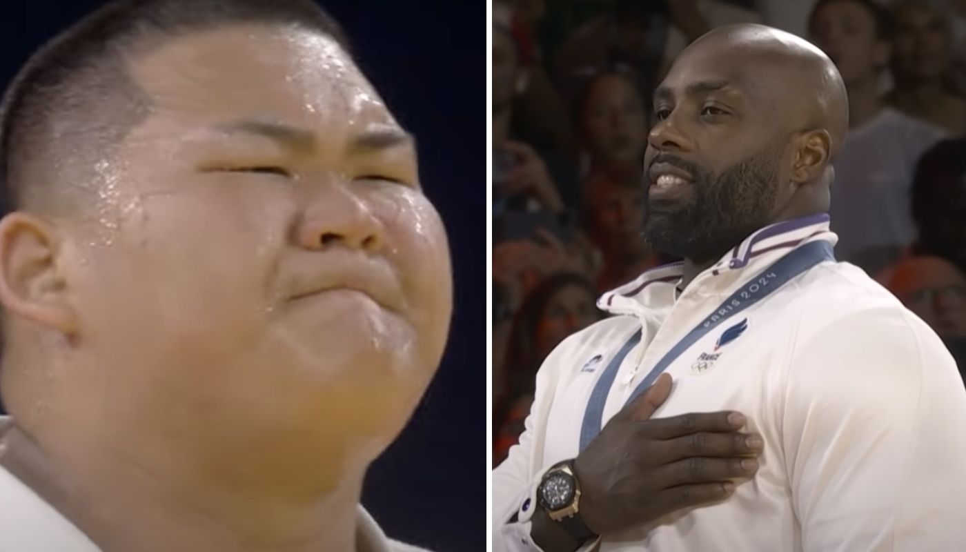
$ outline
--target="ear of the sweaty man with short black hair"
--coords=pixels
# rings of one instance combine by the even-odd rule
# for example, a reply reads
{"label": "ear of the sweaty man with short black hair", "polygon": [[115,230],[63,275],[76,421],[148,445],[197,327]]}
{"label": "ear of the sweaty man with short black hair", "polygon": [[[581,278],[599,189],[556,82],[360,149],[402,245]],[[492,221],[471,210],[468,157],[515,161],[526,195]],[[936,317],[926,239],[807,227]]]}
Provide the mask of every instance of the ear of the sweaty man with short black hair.
{"label": "ear of the sweaty man with short black hair", "polygon": [[0,220],[0,303],[14,316],[72,335],[77,317],[61,261],[47,222],[25,213]]}

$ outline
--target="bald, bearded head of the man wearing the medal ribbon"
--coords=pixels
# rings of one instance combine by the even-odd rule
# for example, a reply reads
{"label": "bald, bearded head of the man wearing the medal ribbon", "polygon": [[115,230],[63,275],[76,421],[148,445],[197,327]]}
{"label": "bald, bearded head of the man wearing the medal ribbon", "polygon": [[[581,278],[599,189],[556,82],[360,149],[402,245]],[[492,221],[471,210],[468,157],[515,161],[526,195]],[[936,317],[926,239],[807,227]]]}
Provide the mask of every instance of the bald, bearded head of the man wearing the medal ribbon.
{"label": "bald, bearded head of the man wearing the medal ribbon", "polygon": [[654,108],[644,232],[656,249],[714,261],[762,226],[828,211],[848,102],[814,45],[718,28],[681,52]]}

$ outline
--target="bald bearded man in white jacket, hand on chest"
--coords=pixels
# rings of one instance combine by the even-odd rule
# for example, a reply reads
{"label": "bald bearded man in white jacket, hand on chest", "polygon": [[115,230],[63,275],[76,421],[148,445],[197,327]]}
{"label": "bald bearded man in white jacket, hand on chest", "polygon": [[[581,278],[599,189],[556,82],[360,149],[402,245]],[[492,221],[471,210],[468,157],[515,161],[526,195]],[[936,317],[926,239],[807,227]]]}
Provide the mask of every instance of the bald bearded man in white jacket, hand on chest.
{"label": "bald bearded man in white jacket, hand on chest", "polygon": [[684,258],[537,375],[494,472],[500,551],[927,551],[966,541],[966,391],[940,339],[838,263],[844,86],[758,25],[691,44],[655,93],[650,244]]}

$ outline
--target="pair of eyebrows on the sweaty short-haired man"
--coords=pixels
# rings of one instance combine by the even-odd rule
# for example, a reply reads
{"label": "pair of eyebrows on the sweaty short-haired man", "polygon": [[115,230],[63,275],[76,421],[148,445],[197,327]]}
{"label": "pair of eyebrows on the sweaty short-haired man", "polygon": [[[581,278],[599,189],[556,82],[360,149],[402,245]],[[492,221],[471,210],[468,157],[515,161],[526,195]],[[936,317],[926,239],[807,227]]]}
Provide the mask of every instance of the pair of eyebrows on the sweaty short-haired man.
{"label": "pair of eyebrows on the sweaty short-haired man", "polygon": [[[223,123],[216,127],[228,133],[257,134],[275,140],[294,150],[307,150],[315,146],[315,133],[282,123],[241,120]],[[415,137],[407,131],[389,125],[372,126],[356,134],[349,144],[349,151],[356,154],[371,153],[402,146],[415,149]]]}

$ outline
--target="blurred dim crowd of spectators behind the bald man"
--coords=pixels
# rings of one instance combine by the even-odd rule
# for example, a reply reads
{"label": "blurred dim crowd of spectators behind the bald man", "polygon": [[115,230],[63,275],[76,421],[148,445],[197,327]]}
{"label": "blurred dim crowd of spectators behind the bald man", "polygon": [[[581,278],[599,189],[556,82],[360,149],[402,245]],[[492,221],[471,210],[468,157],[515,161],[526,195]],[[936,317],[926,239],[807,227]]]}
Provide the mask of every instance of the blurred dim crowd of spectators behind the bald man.
{"label": "blurred dim crowd of spectators behind the bald man", "polygon": [[966,0],[497,0],[493,15],[494,462],[540,363],[596,298],[675,259],[641,237],[650,93],[738,22],[802,36],[849,94],[838,260],[876,278],[966,371]]}

